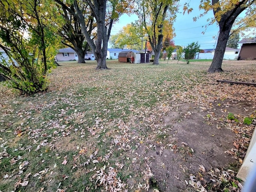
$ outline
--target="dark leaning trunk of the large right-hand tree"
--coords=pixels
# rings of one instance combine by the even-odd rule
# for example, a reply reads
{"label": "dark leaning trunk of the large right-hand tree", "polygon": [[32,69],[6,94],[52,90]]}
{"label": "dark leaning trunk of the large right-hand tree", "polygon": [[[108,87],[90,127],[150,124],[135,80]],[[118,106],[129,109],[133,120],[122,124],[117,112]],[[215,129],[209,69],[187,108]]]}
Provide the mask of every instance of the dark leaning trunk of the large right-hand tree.
{"label": "dark leaning trunk of the large right-hand tree", "polygon": [[220,34],[218,37],[218,42],[217,42],[216,49],[214,52],[212,64],[211,64],[210,68],[208,69],[208,72],[210,72],[210,73],[223,71],[221,68],[222,60],[223,60],[223,57],[225,54],[225,49],[226,49],[226,45],[228,42],[229,33],[232,28],[232,24],[230,24],[230,26],[226,25],[223,27],[221,27],[222,24],[219,24],[219,26],[220,26]]}

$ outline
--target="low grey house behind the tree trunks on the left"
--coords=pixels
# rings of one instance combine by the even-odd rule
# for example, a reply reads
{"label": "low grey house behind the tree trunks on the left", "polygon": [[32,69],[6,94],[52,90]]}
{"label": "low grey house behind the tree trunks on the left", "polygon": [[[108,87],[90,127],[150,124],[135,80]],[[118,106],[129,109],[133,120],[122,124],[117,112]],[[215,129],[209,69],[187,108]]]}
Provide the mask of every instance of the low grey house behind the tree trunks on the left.
{"label": "low grey house behind the tree trunks on the left", "polygon": [[[84,58],[88,60],[95,60],[92,52],[87,52]],[[78,55],[72,48],[63,48],[58,50],[56,59],[57,61],[78,61]]]}

